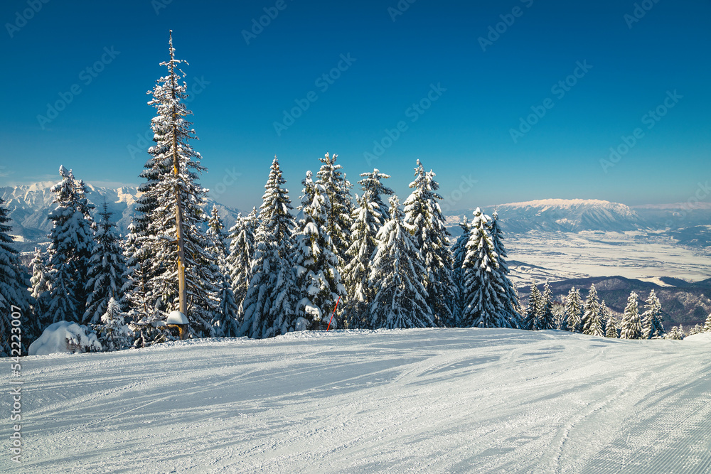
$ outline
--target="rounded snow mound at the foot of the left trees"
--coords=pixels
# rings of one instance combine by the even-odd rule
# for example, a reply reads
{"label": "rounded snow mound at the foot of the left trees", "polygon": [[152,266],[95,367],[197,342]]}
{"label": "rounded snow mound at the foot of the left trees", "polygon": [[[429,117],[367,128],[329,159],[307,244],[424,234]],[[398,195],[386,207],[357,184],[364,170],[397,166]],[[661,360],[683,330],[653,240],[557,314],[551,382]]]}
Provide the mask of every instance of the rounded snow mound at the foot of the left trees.
{"label": "rounded snow mound at the foot of the left trees", "polygon": [[102,350],[96,334],[85,325],[58,321],[50,324],[30,345],[28,355],[47,355],[57,352],[95,352]]}

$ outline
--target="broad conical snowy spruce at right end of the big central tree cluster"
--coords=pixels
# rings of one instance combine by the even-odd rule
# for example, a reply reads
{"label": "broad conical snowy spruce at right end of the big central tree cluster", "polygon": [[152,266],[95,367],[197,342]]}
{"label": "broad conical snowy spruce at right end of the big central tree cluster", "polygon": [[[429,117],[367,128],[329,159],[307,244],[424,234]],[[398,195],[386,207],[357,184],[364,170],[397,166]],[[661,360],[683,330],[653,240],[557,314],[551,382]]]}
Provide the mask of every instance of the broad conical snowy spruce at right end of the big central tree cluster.
{"label": "broad conical snowy spruce at right end of the big central tree cluster", "polygon": [[462,268],[465,306],[459,325],[464,328],[512,327],[503,303],[506,293],[487,220],[487,216],[476,208]]}

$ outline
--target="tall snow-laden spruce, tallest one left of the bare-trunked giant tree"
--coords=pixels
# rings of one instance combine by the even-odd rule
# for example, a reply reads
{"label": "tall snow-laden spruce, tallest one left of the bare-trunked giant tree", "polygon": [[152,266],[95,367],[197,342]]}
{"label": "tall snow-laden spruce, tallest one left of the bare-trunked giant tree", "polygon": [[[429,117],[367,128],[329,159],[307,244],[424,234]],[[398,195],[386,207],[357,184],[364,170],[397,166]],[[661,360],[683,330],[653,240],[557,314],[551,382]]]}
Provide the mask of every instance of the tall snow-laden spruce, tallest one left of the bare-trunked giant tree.
{"label": "tall snow-laden spruce, tallest one left of the bare-trunked giant tree", "polygon": [[87,291],[84,282],[90,268],[94,247],[93,206],[85,196],[86,188],[76,181],[72,171],[59,168],[62,181],[51,190],[56,194],[57,208],[50,212],[50,303],[43,328],[58,321],[82,323]]}

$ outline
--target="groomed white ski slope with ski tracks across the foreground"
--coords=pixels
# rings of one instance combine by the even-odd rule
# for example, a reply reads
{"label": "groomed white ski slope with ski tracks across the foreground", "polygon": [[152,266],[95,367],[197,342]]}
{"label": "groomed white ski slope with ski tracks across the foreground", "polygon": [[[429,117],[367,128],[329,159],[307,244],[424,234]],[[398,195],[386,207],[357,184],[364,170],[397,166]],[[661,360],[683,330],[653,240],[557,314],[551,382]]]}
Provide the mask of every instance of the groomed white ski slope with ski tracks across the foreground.
{"label": "groomed white ski slope with ski tracks across the foreground", "polygon": [[[25,473],[709,473],[710,349],[711,333],[626,341],[416,329],[32,356],[22,367],[23,463],[0,464]],[[6,420],[0,436],[10,429]]]}

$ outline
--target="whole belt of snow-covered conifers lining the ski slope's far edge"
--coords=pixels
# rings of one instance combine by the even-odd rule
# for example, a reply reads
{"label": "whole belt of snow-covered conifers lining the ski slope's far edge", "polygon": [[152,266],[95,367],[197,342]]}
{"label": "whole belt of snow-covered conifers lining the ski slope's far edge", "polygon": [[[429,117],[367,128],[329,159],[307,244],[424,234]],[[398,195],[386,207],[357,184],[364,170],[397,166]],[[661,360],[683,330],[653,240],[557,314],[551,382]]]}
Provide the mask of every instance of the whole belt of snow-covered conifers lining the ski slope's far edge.
{"label": "whole belt of snow-covered conifers lining the ski slope's far edge", "polygon": [[[380,328],[561,329],[624,339],[683,338],[668,333],[654,292],[646,303],[632,293],[614,316],[594,285],[585,301],[570,289],[552,301],[545,282],[531,285],[522,307],[508,276],[505,235],[498,215],[476,209],[453,241],[445,226],[436,174],[413,163],[411,193],[400,199],[389,175],[373,169],[348,181],[338,155],[314,160],[299,196],[289,195],[279,160],[265,170],[262,205],[225,229],[217,209],[200,207],[208,168],[193,149],[183,61],[172,37],[166,75],[156,81],[149,105],[154,145],[147,152],[137,213],[119,236],[112,214],[86,198],[86,185],[62,165],[52,188],[55,209],[50,246],[23,268],[0,207],[0,296],[24,308],[23,353],[59,321],[77,323],[102,345],[86,350],[142,348],[178,338],[166,325],[178,310],[176,215],[181,217],[186,275],[183,337],[270,338],[300,330]],[[406,170],[398,170],[405,173]],[[178,212],[179,210],[179,212]],[[26,276],[31,275],[30,279]],[[557,311],[555,305],[565,309]],[[639,303],[645,306],[642,311]],[[5,312],[4,315],[8,313]],[[11,321],[3,316],[9,333]],[[708,328],[694,329],[702,332]],[[81,347],[78,348],[81,350]],[[5,340],[3,355],[10,355]]]}

